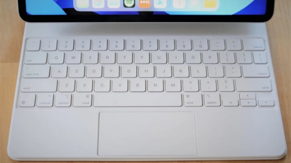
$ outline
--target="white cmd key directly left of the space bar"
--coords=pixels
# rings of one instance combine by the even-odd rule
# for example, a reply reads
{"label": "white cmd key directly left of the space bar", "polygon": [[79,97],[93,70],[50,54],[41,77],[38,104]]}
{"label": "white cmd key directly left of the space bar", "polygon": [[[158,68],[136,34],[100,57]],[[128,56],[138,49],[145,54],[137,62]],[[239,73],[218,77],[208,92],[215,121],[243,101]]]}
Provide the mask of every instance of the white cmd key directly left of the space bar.
{"label": "white cmd key directly left of the space bar", "polygon": [[90,107],[92,104],[92,94],[75,94],[73,99],[74,107]]}

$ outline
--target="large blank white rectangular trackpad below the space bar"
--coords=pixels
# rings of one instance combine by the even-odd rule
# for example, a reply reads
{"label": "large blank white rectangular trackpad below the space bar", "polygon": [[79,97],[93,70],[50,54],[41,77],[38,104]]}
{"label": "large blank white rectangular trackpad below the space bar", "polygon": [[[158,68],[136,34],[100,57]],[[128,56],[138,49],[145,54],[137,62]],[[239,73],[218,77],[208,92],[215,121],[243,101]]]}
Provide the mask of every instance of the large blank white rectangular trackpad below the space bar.
{"label": "large blank white rectangular trackpad below the space bar", "polygon": [[197,155],[195,113],[101,112],[98,155]]}

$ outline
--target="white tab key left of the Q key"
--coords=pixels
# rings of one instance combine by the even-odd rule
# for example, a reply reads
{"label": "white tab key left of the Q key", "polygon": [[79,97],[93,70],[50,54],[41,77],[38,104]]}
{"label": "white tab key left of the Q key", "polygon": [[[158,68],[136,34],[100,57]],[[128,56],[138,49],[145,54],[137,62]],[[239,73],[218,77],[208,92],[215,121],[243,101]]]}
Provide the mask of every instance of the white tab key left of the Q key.
{"label": "white tab key left of the Q key", "polygon": [[46,64],[47,53],[46,52],[26,52],[25,64]]}

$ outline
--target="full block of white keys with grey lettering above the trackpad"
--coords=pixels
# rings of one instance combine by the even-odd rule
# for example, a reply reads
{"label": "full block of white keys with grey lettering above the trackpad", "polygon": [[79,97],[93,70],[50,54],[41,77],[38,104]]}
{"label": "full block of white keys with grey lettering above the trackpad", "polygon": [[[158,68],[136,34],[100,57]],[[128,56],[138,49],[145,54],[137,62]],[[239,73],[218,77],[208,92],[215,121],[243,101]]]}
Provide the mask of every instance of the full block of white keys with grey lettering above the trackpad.
{"label": "full block of white keys with grey lettering above the trackpad", "polygon": [[18,106],[273,107],[267,58],[261,38],[31,38]]}

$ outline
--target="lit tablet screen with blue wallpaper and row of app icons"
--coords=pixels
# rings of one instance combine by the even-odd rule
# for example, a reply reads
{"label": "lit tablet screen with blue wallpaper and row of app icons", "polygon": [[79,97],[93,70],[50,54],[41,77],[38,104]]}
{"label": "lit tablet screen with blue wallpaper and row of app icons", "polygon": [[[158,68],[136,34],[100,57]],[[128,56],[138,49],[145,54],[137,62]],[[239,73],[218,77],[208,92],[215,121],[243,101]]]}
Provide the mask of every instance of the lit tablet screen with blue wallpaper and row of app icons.
{"label": "lit tablet screen with blue wallpaper and row of app icons", "polygon": [[26,0],[28,15],[264,15],[267,0]]}

